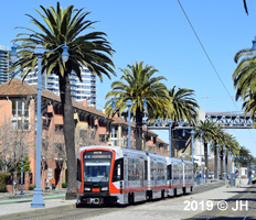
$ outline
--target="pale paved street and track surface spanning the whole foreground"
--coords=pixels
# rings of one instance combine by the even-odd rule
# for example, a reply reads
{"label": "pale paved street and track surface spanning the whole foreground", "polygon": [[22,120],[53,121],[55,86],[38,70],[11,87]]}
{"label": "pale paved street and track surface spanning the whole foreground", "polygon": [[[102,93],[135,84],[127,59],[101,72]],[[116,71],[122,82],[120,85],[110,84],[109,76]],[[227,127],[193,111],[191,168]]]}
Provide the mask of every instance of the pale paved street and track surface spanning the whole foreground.
{"label": "pale paved street and track surface spanning the whole foreground", "polygon": [[[75,208],[75,200],[65,201],[60,198],[47,200],[47,208],[31,209],[26,212],[2,216],[0,219],[13,220],[50,220],[50,219],[86,219],[86,220],[202,220],[202,219],[256,219],[256,188],[254,186],[244,186],[241,188],[227,188],[224,183],[214,183],[200,185],[195,187],[193,194],[139,202],[131,206],[107,206]],[[22,201],[22,200],[21,200]],[[228,207],[220,210],[220,204],[226,201]],[[238,210],[234,210],[242,205]],[[64,206],[51,207],[51,204],[63,202]],[[65,204],[66,202],[66,204]],[[242,204],[241,204],[242,202]],[[247,204],[246,204],[247,202]],[[22,206],[30,202],[0,204],[1,212],[4,209],[21,209]],[[245,207],[246,205],[246,207]],[[46,206],[45,206],[46,207]],[[221,208],[223,208],[221,206]],[[225,208],[225,207],[224,207]],[[247,209],[245,209],[247,208]],[[209,209],[209,210],[207,210]],[[246,218],[245,218],[246,217]]]}

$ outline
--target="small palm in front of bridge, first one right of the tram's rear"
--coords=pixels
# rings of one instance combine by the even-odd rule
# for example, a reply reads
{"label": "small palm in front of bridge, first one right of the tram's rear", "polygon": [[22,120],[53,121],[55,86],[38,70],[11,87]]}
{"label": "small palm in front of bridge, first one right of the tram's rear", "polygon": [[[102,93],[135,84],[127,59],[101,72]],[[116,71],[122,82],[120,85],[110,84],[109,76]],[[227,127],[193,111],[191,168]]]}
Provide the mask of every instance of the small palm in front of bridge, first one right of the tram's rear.
{"label": "small palm in front of bridge, first one right of the tram's rear", "polygon": [[195,134],[194,138],[196,140],[201,139],[202,133],[202,141],[204,144],[204,160],[205,160],[205,175],[209,175],[209,155],[207,155],[207,144],[214,140],[214,128],[215,123],[212,121],[200,121],[199,124],[195,127]]}

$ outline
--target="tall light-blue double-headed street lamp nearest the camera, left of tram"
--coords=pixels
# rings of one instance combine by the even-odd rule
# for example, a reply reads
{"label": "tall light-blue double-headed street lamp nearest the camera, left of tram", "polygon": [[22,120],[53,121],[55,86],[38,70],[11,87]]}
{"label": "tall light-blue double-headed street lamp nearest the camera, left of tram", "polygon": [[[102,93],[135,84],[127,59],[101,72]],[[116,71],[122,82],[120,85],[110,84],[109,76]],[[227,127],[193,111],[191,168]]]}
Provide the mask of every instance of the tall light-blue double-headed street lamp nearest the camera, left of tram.
{"label": "tall light-blue double-headed street lamp nearest the camera, left of tram", "polygon": [[[18,58],[17,46],[13,45],[12,52],[10,54],[11,61],[14,63]],[[29,52],[33,52],[38,56],[38,125],[36,125],[36,182],[35,188],[33,191],[33,200],[31,202],[32,208],[43,208],[43,189],[41,188],[41,59],[44,53],[54,52],[57,48],[63,47],[62,59],[63,62],[67,62],[68,52],[66,43],[57,46],[55,50],[49,51],[44,50],[42,45],[36,45],[34,50],[26,50]],[[23,47],[22,47],[23,48]],[[25,48],[24,48],[25,50]]]}

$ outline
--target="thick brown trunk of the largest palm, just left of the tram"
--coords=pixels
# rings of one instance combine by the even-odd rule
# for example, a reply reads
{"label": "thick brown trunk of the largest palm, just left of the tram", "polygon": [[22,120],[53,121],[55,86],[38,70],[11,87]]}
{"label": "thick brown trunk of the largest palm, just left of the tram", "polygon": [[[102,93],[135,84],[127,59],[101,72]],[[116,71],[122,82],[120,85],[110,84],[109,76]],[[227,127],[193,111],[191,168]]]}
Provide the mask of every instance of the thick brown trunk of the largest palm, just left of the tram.
{"label": "thick brown trunk of the largest palm, just left of the tram", "polygon": [[71,85],[68,73],[58,77],[62,100],[64,139],[67,157],[67,191],[66,199],[76,198],[76,154],[75,154],[75,123],[74,110],[71,99]]}

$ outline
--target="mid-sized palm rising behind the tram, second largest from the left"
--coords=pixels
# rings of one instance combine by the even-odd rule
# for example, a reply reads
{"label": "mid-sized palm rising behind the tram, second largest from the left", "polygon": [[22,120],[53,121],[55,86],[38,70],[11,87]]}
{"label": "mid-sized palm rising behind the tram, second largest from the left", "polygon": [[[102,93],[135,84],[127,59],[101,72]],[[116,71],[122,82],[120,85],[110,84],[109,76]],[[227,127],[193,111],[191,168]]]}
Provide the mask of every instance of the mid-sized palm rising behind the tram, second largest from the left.
{"label": "mid-sized palm rising behind the tram, second largest from the left", "polygon": [[118,100],[117,110],[119,114],[127,107],[127,100],[131,100],[134,105],[131,106],[131,112],[136,117],[136,148],[142,148],[142,100],[146,98],[148,105],[149,117],[160,116],[161,109],[167,108],[169,100],[167,87],[160,82],[160,80],[166,79],[162,76],[153,77],[153,74],[158,70],[149,66],[143,65],[143,62],[128,65],[128,69],[120,70],[124,73],[121,80],[114,81],[111,84],[111,91],[106,95],[106,98],[110,98],[106,105],[106,113],[111,116],[115,113],[111,109],[113,98]]}

